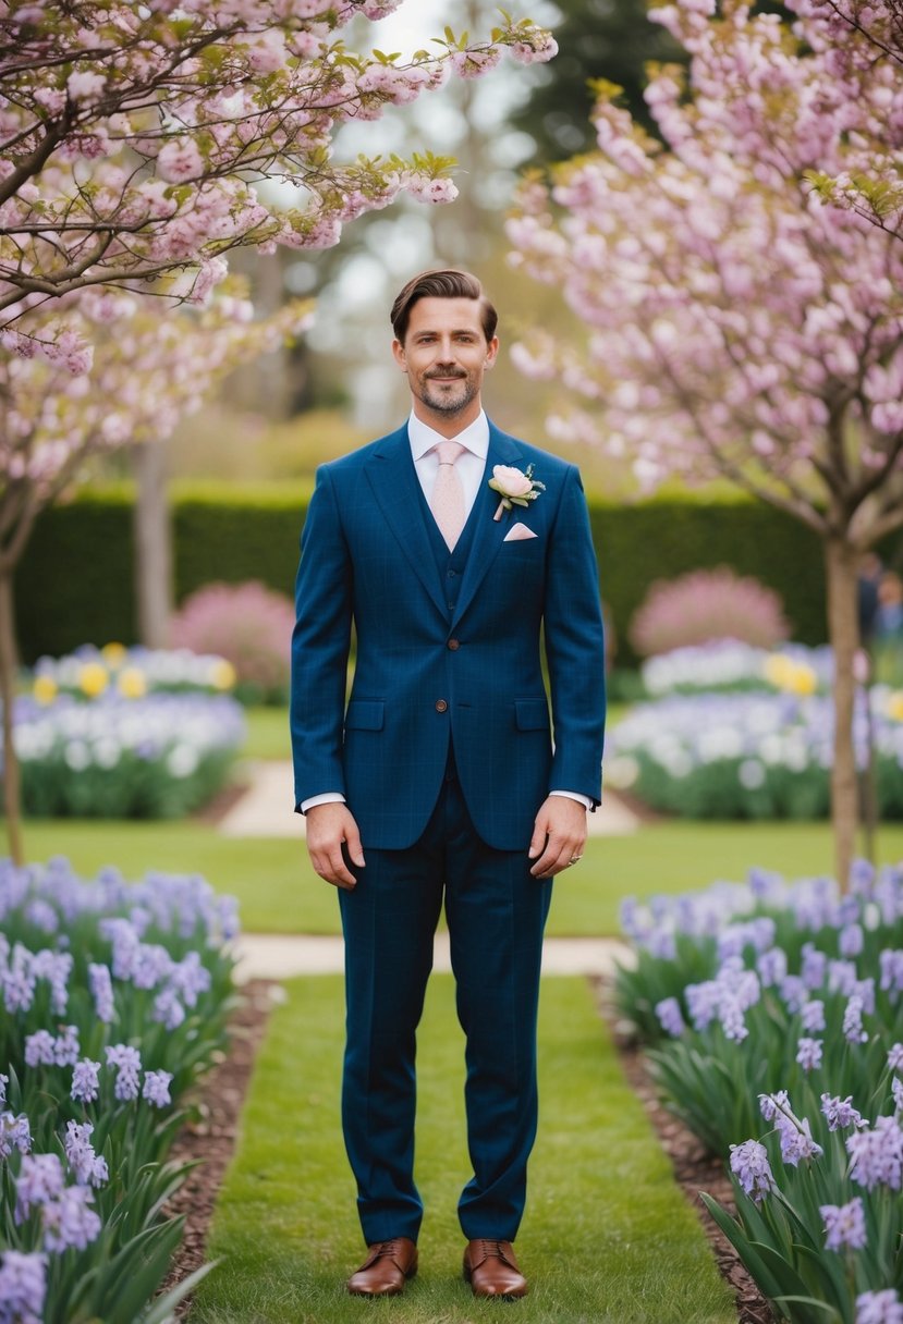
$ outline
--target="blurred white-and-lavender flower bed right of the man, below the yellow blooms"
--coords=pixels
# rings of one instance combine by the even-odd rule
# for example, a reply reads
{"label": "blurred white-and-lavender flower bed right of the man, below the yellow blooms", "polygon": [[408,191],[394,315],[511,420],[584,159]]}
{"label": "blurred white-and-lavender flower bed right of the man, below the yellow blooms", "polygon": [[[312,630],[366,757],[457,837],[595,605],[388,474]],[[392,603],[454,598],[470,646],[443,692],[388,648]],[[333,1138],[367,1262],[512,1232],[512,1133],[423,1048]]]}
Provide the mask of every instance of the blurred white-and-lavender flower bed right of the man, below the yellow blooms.
{"label": "blurred white-and-lavender flower bed right of the man, below the yellow blooms", "polygon": [[[871,690],[878,809],[903,818],[903,695]],[[608,737],[608,784],[686,818],[824,818],[834,714],[824,695],[699,694],[641,703]],[[854,739],[867,763],[859,694]]]}

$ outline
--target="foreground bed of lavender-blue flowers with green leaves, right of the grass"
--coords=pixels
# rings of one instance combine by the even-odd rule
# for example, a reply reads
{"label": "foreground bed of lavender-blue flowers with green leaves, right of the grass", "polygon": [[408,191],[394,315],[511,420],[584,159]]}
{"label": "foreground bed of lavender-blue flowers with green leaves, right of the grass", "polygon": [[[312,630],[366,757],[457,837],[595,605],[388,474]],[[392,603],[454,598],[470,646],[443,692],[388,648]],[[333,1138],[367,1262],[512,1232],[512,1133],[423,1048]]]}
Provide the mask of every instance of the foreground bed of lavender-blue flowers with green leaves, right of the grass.
{"label": "foreground bed of lavender-blue flowers with green leaves, right of the grass", "polygon": [[620,1013],[669,1107],[728,1157],[707,1201],[779,1317],[903,1321],[903,870],[756,871],[629,903]]}

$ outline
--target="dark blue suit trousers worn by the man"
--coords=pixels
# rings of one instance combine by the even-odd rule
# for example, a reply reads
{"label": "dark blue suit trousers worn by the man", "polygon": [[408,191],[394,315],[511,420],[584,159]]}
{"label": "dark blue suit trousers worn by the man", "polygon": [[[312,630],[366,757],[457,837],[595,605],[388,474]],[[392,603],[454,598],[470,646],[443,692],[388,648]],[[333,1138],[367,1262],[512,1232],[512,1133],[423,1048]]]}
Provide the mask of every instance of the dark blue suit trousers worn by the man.
{"label": "dark blue suit trousers worn by the man", "polygon": [[422,837],[373,850],[340,891],[346,941],[347,1045],[342,1091],[346,1148],[368,1245],[417,1241],[422,1202],[413,1176],[416,1033],[445,900],[465,1033],[467,1145],[473,1176],[461,1229],[514,1241],[536,1135],[536,1012],[551,879],[530,874],[527,850],[493,850],[477,834],[449,759]]}

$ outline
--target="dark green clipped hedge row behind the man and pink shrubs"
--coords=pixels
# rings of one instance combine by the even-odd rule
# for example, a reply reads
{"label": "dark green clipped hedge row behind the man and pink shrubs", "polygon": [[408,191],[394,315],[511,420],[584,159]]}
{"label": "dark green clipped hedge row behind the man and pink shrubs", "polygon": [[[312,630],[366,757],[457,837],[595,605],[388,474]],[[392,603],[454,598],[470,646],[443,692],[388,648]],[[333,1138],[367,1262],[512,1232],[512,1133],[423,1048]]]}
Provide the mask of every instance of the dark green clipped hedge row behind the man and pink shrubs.
{"label": "dark green clipped hedge row behind the man and pink shrubs", "polygon": [[[173,500],[176,600],[211,580],[258,579],[291,594],[307,490],[196,489]],[[731,565],[777,589],[805,643],[825,639],[818,539],[797,520],[745,500],[655,498],[592,506],[602,583],[618,639],[657,579]],[[16,580],[23,661],[78,643],[134,642],[134,555],[127,491],[86,493],[45,511]]]}

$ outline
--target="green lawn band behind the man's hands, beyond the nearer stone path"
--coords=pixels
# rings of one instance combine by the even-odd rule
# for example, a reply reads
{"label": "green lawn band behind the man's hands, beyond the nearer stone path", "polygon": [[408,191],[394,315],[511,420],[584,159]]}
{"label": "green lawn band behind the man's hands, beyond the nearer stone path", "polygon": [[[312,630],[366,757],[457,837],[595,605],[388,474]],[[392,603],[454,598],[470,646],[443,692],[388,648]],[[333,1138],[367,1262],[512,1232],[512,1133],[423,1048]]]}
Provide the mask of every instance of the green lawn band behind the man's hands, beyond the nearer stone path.
{"label": "green lawn band behind the man's hands, beyond the nearer stone path", "polygon": [[[903,825],[879,833],[880,861],[903,859]],[[314,874],[303,841],[228,838],[196,822],[34,821],[25,824],[28,859],[66,855],[83,875],[115,865],[126,878],[148,869],[197,873],[241,902],[254,932],[338,933],[335,892]],[[630,837],[591,838],[584,859],[555,886],[549,933],[618,932],[629,894],[679,892],[715,879],[741,880],[752,865],[788,878],[832,871],[826,824],[643,825]]]}

